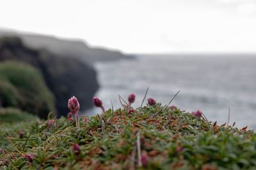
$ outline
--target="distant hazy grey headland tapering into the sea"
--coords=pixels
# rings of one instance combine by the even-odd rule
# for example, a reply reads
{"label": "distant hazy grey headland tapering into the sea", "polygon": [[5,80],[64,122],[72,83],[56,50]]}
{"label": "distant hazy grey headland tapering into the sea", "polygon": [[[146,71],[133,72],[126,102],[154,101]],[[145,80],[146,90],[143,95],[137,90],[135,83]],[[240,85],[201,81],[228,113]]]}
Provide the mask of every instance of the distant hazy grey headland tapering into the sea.
{"label": "distant hazy grey headland tapering into the sea", "polygon": [[121,52],[116,50],[106,50],[104,48],[92,48],[81,39],[60,39],[53,36],[43,36],[40,34],[24,34],[19,32],[0,31],[0,36],[17,36],[29,48],[44,48],[60,57],[74,57],[86,63],[93,64],[97,61],[109,61],[117,59],[127,59]]}

